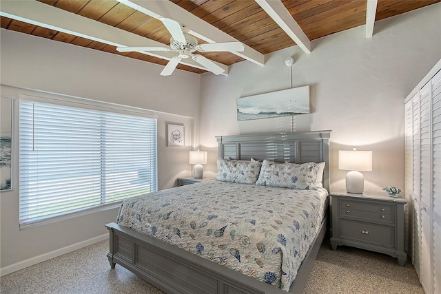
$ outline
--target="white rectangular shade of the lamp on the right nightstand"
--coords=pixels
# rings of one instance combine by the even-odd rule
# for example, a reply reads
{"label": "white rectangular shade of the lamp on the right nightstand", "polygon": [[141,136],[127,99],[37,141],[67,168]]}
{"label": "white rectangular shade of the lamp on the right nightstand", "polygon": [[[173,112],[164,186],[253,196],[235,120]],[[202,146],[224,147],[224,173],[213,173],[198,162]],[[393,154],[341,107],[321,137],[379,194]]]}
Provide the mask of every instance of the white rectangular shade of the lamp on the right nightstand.
{"label": "white rectangular shade of the lamp on the right nightstand", "polygon": [[371,171],[372,151],[338,151],[338,169]]}

